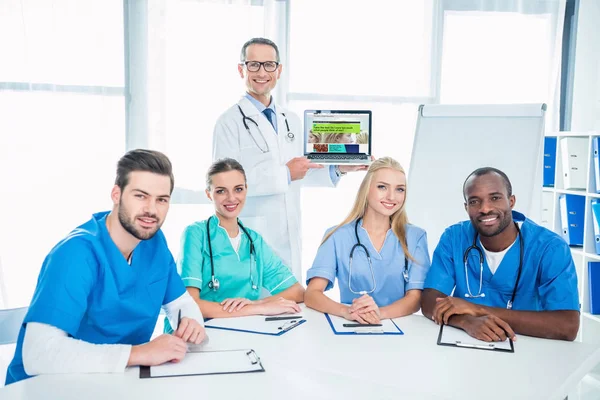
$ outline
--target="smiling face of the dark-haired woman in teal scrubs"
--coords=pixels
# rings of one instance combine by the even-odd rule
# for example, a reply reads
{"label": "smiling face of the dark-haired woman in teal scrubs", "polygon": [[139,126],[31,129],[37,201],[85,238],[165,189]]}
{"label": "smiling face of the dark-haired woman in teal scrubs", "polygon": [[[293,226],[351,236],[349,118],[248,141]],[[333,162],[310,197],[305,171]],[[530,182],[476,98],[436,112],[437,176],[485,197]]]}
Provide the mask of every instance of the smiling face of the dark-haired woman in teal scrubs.
{"label": "smiling face of the dark-haired woman in teal scrubs", "polygon": [[246,180],[240,171],[220,172],[211,177],[206,195],[215,205],[219,219],[237,219],[246,202]]}

